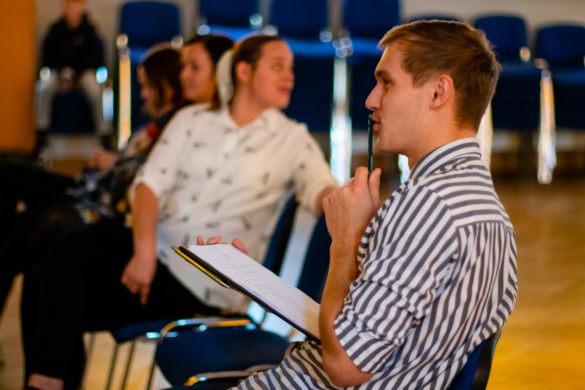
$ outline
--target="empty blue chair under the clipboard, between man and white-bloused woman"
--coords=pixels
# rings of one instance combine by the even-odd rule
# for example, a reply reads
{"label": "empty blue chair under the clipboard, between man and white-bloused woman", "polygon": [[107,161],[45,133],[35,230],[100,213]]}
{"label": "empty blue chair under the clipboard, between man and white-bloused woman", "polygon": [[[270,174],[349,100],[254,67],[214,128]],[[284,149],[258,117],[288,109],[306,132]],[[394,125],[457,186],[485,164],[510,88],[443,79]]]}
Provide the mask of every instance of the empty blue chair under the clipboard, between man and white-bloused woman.
{"label": "empty blue chair under the clipboard, between man and white-bloused woman", "polygon": [[[322,286],[329,266],[330,246],[331,237],[323,215],[315,225],[298,282],[299,289],[318,301],[321,300]],[[233,376],[230,375],[238,375],[237,373],[226,373],[225,377],[214,379],[219,381],[215,385],[206,380],[207,377],[202,378],[197,374],[243,371],[257,365],[276,365],[283,360],[290,344],[287,338],[260,330],[259,326],[252,323],[235,327],[212,327],[208,323],[201,327],[197,319],[189,321],[188,324],[181,324],[180,321],[168,324],[161,331],[155,353],[160,371],[173,386],[183,385],[192,378],[194,389],[228,388],[232,385],[225,384],[233,381]],[[205,358],[202,358],[203,355]]]}

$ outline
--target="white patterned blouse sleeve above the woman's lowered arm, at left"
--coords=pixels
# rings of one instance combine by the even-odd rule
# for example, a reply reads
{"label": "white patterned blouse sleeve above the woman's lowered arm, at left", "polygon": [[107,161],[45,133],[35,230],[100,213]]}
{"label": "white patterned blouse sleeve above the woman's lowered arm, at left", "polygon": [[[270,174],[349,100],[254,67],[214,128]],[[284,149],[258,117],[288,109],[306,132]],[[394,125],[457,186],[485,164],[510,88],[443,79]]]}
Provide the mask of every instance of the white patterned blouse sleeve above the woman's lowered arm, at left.
{"label": "white patterned blouse sleeve above the woman's lowered arm, at left", "polygon": [[185,117],[188,117],[185,115],[185,111],[177,113],[163,129],[159,139],[150,150],[146,162],[137,171],[132,186],[130,186],[130,201],[134,197],[136,186],[140,183],[146,184],[153,191],[159,199],[159,205],[163,197],[173,189],[189,134],[184,125]]}

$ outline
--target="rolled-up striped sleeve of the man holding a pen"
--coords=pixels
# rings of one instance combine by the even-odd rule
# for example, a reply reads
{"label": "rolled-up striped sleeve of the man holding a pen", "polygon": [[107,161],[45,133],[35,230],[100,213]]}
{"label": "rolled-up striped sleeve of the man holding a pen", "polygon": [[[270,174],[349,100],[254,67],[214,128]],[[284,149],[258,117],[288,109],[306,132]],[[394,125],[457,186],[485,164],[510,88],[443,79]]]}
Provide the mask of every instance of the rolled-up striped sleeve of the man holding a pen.
{"label": "rolled-up striped sleeve of the man holding a pen", "polygon": [[334,323],[360,370],[382,370],[428,314],[458,242],[450,211],[433,191],[411,189],[390,203]]}

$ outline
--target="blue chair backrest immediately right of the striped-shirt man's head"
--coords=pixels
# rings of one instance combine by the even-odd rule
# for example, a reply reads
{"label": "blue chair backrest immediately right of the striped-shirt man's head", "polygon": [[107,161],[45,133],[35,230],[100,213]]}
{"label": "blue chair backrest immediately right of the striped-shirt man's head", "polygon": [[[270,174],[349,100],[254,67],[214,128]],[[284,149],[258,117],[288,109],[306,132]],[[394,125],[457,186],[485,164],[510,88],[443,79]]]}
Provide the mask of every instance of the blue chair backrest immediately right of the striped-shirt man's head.
{"label": "blue chair backrest immediately right of the striped-shirt man's head", "polygon": [[486,16],[475,22],[475,28],[484,30],[494,45],[498,60],[520,60],[520,48],[526,46],[526,25],[517,16]]}

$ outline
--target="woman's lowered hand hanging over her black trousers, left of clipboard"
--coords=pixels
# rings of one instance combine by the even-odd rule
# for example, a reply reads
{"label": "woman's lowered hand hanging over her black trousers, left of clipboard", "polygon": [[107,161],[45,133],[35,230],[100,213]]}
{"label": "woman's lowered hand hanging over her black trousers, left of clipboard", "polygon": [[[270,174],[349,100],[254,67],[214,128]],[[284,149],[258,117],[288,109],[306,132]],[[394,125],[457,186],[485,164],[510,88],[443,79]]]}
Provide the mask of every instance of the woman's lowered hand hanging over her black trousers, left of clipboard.
{"label": "woman's lowered hand hanging over her black trousers, left of clipboard", "polygon": [[124,272],[121,282],[133,294],[140,296],[140,303],[146,305],[150,293],[150,285],[156,274],[156,254],[138,255],[134,254]]}

